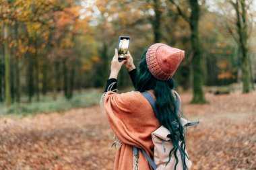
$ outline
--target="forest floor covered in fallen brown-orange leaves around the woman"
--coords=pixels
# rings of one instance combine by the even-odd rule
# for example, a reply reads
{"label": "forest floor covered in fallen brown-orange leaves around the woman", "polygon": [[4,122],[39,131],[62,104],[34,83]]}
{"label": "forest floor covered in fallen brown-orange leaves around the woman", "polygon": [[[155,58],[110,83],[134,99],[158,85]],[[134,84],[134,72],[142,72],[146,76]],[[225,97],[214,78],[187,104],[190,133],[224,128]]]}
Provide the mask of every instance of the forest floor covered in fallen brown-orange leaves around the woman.
{"label": "forest floor covered in fallen brown-orange leaves around the woman", "polygon": [[[256,169],[256,93],[181,95],[193,169]],[[113,169],[113,132],[100,107],[0,118],[0,169]]]}

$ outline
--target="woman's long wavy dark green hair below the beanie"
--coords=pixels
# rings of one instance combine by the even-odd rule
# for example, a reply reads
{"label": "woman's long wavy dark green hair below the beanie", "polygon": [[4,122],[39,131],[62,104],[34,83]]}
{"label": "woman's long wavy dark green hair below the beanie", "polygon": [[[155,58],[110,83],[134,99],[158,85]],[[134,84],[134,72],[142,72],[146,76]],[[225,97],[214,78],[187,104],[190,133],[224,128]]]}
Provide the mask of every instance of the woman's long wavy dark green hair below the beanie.
{"label": "woman's long wavy dark green hair below the beanie", "polygon": [[[160,81],[152,76],[150,71],[148,70],[147,63],[146,63],[146,52],[145,50],[142,54],[141,61],[139,63],[139,71],[137,74],[137,84],[135,85],[135,91],[146,91],[152,89],[154,94],[156,95],[156,108],[158,110],[158,114],[156,117],[158,118],[160,124],[162,124],[165,128],[170,130],[170,137],[173,148],[169,153],[169,160],[172,154],[176,159],[177,167],[179,163],[179,159],[177,157],[177,151],[179,151],[179,142],[181,142],[181,152],[185,157],[187,154],[185,153],[185,136],[184,136],[184,128],[181,124],[181,118],[179,118],[178,113],[175,112],[177,110],[176,100],[172,95],[172,89],[174,87],[173,79],[169,79],[168,81]],[[175,123],[174,123],[175,122]],[[187,165],[185,162],[185,157],[183,157],[183,165],[187,169]],[[167,163],[167,164],[168,164]],[[166,165],[167,165],[166,164]]]}

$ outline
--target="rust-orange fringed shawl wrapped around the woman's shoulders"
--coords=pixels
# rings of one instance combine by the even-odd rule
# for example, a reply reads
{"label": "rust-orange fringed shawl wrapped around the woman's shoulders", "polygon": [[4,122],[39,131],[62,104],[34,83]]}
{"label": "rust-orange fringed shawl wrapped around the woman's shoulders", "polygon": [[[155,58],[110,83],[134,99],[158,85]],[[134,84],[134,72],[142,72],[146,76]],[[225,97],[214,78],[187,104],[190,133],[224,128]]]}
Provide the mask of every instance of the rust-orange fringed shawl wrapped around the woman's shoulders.
{"label": "rust-orange fringed shawl wrapped around the woman's shoulders", "polygon": [[[149,91],[152,95],[153,92]],[[154,96],[154,95],[153,95]],[[160,127],[148,100],[138,91],[104,96],[104,112],[113,132],[123,143],[117,150],[115,170],[133,169],[133,148],[143,148],[153,158],[154,144],[151,133]],[[152,169],[146,157],[139,152],[139,170]]]}

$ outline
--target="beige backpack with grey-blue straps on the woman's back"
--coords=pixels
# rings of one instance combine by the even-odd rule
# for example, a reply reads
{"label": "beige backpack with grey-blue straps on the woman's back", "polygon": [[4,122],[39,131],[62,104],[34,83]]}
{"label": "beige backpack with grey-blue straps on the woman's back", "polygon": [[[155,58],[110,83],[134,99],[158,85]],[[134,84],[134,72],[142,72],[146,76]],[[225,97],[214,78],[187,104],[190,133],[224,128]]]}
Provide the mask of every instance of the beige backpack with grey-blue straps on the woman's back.
{"label": "beige backpack with grey-blue straps on the woman's back", "polygon": [[[177,108],[179,108],[180,105],[180,99],[179,95],[177,94],[176,91],[174,91],[174,94],[176,95],[177,98]],[[152,108],[155,113],[158,111],[156,110],[156,101],[148,93],[147,91],[143,92],[142,95],[148,99],[150,105],[152,105]],[[178,112],[179,110],[177,110]],[[174,122],[175,123],[175,122]],[[189,122],[184,118],[181,118],[181,123],[182,125],[186,128],[187,126],[192,126],[194,124],[199,124],[199,121],[196,122]],[[146,154],[145,151],[141,150],[140,148],[133,147],[133,155],[136,156],[137,151],[141,150],[143,155],[148,159],[148,162],[152,166],[153,169],[156,170],[173,170],[176,164],[176,159],[174,157],[174,154],[170,157],[170,162],[168,163],[169,160],[169,153],[172,150],[173,144],[170,138],[168,137],[168,134],[170,134],[170,131],[165,128],[164,126],[160,126],[157,130],[152,132],[152,140],[154,143],[154,161]],[[182,153],[181,154],[181,142],[179,142],[179,149],[177,150],[177,157],[179,159],[179,163],[177,164],[176,169],[177,170],[186,170],[190,169],[192,162],[188,159],[188,154],[187,154],[187,149],[185,149],[185,153],[187,154],[187,157]],[[185,157],[185,164],[183,164],[182,159],[184,160]],[[168,163],[166,165],[166,163]]]}

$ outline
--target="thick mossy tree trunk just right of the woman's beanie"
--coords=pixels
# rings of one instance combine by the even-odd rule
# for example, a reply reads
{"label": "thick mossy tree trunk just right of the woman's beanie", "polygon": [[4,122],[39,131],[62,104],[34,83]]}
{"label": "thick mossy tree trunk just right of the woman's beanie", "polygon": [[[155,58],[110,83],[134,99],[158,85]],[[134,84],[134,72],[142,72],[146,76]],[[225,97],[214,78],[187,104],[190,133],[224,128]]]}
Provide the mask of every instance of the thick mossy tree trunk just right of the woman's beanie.
{"label": "thick mossy tree trunk just right of the woman's beanie", "polygon": [[197,0],[190,0],[191,17],[189,25],[191,28],[191,46],[193,49],[192,67],[193,67],[193,99],[192,103],[205,103],[203,93],[203,58],[199,42],[199,16],[200,7]]}

